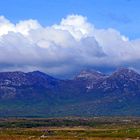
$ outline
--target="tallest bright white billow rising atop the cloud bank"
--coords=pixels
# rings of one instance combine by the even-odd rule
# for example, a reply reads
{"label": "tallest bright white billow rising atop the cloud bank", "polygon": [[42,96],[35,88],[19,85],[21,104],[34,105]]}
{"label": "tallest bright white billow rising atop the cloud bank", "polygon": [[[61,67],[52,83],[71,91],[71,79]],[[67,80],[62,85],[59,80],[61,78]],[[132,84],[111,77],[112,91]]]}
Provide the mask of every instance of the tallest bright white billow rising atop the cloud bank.
{"label": "tallest bright white billow rising atop the cloud bank", "polygon": [[87,18],[80,15],[69,15],[66,19],[62,19],[59,25],[53,25],[53,28],[66,30],[77,40],[92,35],[94,30],[94,26],[87,22]]}

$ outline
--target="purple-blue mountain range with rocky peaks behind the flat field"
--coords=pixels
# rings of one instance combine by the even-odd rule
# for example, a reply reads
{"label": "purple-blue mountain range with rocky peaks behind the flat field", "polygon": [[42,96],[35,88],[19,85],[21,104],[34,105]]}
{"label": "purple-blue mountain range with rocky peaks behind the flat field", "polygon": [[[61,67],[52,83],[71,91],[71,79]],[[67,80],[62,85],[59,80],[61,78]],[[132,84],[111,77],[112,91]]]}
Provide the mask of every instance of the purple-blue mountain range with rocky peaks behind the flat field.
{"label": "purple-blue mountain range with rocky peaks behind the flat field", "polygon": [[70,80],[40,71],[0,73],[0,117],[140,116],[140,74],[84,70]]}

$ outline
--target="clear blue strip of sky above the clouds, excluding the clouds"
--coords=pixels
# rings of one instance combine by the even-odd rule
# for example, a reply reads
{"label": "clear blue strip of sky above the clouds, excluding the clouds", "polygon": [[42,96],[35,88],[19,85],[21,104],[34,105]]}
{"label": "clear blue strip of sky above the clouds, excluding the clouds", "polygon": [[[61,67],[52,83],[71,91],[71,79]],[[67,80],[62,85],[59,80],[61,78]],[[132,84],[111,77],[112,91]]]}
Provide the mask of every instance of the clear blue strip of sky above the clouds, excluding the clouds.
{"label": "clear blue strip of sky above the clouds, excluding the clouds", "polygon": [[139,7],[139,0],[1,0],[0,14],[12,22],[37,19],[44,26],[80,14],[97,28],[112,27],[134,39],[140,36]]}

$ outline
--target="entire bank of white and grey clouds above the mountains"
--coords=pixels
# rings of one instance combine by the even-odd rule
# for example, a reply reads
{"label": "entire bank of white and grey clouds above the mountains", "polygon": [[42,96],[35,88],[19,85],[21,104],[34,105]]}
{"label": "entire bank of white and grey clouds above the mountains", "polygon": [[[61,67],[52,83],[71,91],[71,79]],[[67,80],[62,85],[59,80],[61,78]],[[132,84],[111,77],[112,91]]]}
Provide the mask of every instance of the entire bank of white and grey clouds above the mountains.
{"label": "entire bank of white and grey clouds above the mountains", "polygon": [[140,39],[129,40],[112,28],[97,29],[81,15],[69,15],[49,27],[33,19],[14,24],[0,16],[1,71],[66,76],[88,67],[139,69],[139,46]]}

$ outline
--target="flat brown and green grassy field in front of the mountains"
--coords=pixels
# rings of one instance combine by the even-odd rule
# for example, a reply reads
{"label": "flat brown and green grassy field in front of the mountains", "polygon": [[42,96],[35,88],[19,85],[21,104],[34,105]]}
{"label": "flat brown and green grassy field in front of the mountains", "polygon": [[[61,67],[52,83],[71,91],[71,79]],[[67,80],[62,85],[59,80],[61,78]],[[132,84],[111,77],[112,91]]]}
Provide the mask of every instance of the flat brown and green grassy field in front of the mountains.
{"label": "flat brown and green grassy field in front of the mountains", "polygon": [[140,118],[0,119],[0,140],[140,140]]}

